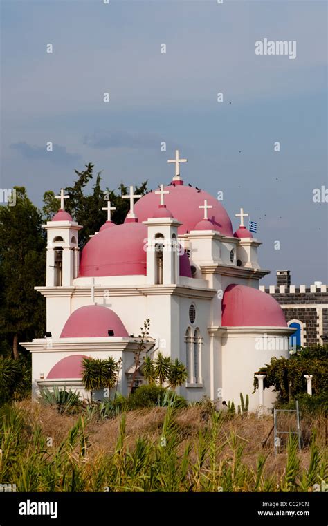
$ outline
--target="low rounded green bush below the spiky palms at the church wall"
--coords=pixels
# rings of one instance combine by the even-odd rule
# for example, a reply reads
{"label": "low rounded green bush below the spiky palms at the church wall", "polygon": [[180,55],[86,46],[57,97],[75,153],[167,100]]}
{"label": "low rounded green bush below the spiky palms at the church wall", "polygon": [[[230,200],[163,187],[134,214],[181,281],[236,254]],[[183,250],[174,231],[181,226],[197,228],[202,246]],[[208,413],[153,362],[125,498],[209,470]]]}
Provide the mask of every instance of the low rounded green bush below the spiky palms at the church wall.
{"label": "low rounded green bush below the spiky palms at the church wall", "polygon": [[154,384],[137,387],[136,391],[129,395],[129,409],[154,406],[181,407],[186,404],[185,399],[176,395],[174,391]]}

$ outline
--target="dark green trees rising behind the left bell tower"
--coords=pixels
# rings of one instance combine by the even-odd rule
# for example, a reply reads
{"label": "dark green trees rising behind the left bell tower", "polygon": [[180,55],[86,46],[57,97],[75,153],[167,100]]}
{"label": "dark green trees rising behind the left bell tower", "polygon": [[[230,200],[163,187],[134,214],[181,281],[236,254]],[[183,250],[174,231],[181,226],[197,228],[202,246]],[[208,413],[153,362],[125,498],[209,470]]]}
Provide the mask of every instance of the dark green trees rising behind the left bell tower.
{"label": "dark green trees rising behind the left bell tower", "polygon": [[[65,201],[65,210],[69,212],[79,225],[83,225],[83,229],[79,234],[79,246],[84,247],[85,243],[89,241],[89,236],[95,232],[99,232],[100,227],[107,220],[106,212],[102,208],[106,205],[106,201],[110,200],[111,205],[116,207],[112,214],[113,223],[120,225],[124,223],[125,217],[129,212],[129,203],[127,199],[122,199],[122,195],[127,194],[127,188],[121,184],[118,187],[118,194],[110,190],[108,187],[101,188],[101,171],[95,176],[95,184],[93,191],[87,195],[86,186],[93,179],[94,165],[89,162],[85,165],[84,171],[75,170],[78,178],[75,180],[73,186],[66,187],[64,190],[69,195],[69,199]],[[59,191],[59,189],[58,189]],[[136,187],[136,194],[141,196],[147,193],[147,181],[143,182],[140,187]],[[60,202],[55,198],[55,192],[52,190],[46,191],[44,194],[44,220],[51,220],[60,208]]]}

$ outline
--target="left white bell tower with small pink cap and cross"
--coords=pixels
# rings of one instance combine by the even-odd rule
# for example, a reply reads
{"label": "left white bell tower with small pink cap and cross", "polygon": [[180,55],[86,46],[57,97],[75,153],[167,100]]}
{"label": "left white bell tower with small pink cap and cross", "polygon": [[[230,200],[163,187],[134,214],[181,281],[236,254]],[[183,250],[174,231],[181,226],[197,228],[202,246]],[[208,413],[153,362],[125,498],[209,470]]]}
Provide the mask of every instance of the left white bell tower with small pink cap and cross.
{"label": "left white bell tower with small pink cap and cross", "polygon": [[46,247],[46,287],[62,287],[73,284],[73,279],[79,272],[78,231],[82,229],[73,221],[68,212],[64,211],[64,195],[61,189],[60,210],[53,220],[48,221],[42,228],[47,231]]}

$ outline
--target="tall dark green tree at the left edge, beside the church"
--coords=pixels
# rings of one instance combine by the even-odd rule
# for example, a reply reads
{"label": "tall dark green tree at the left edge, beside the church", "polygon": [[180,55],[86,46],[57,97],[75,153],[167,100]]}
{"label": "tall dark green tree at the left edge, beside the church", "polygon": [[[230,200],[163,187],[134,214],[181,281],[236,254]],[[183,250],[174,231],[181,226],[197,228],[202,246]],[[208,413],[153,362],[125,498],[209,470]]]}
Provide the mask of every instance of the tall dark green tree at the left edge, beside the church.
{"label": "tall dark green tree at the left edge, beside the church", "polygon": [[24,187],[14,187],[15,206],[0,207],[0,334],[19,358],[19,339],[44,335],[44,298],[34,290],[43,284],[46,240],[41,214]]}

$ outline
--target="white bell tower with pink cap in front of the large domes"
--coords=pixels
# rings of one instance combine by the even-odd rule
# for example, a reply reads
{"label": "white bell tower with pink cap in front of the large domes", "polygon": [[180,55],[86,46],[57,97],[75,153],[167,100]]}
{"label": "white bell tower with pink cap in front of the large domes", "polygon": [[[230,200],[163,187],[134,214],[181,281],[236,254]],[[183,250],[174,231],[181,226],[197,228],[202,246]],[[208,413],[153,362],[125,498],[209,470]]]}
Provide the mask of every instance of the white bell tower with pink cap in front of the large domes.
{"label": "white bell tower with pink cap in front of the large domes", "polygon": [[174,285],[179,281],[179,243],[178,227],[182,225],[174,219],[164,204],[164,185],[155,194],[161,196],[161,204],[154,217],[143,221],[147,225],[147,283],[151,285]]}

